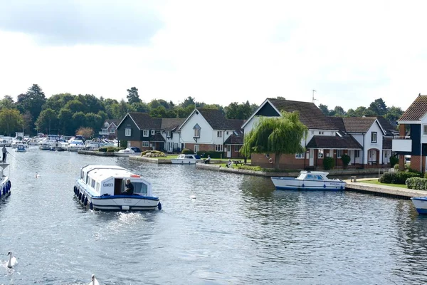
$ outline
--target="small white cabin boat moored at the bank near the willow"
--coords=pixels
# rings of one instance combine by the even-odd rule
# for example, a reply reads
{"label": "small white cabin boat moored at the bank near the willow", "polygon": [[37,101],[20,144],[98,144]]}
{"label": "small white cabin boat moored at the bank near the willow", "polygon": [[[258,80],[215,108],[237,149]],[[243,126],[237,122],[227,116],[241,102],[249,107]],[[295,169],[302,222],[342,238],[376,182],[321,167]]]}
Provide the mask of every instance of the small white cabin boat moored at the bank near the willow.
{"label": "small white cabin boat moored at the bank near the willow", "polygon": [[328,172],[301,171],[297,178],[271,177],[276,189],[283,190],[344,190],[346,183],[339,179],[329,179]]}

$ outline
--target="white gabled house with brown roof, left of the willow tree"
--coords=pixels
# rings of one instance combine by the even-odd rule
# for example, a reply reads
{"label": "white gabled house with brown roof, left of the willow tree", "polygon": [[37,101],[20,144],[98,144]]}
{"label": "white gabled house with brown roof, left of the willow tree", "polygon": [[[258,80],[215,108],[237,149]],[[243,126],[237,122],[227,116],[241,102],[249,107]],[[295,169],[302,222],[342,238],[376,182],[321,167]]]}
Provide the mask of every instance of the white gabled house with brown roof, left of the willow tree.
{"label": "white gabled house with brown roof, left of the willow tree", "polygon": [[[181,124],[181,147],[194,152],[221,152],[221,157],[240,157],[244,120],[227,119],[221,110],[196,108]],[[233,138],[228,138],[233,135]],[[243,138],[243,137],[241,137]],[[226,143],[227,142],[227,143]]]}

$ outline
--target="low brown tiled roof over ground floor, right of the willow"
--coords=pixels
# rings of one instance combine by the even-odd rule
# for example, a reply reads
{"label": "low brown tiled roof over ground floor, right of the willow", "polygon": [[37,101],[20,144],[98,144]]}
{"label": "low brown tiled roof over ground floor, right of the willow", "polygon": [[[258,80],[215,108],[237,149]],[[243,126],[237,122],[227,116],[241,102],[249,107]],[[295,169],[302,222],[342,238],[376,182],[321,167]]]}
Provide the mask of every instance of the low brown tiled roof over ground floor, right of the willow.
{"label": "low brown tiled roof over ground floor, right of the willow", "polygon": [[307,143],[307,148],[332,148],[335,150],[349,150],[349,149],[360,149],[362,150],[362,145],[354,140],[350,135],[346,135],[342,138],[338,136],[329,136],[329,135],[315,135],[312,137],[310,142]]}

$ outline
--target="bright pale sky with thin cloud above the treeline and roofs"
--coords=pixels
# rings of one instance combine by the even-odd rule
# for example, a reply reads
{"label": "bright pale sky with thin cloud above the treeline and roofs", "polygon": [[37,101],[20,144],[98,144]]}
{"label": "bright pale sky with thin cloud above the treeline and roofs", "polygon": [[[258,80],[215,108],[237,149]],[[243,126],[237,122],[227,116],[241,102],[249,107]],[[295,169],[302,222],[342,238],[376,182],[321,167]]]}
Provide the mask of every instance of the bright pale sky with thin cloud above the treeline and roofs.
{"label": "bright pale sky with thin cloud above the treeline and roofs", "polygon": [[[0,0],[0,98],[93,94],[344,110],[427,94],[426,1]],[[315,92],[313,92],[315,90]]]}

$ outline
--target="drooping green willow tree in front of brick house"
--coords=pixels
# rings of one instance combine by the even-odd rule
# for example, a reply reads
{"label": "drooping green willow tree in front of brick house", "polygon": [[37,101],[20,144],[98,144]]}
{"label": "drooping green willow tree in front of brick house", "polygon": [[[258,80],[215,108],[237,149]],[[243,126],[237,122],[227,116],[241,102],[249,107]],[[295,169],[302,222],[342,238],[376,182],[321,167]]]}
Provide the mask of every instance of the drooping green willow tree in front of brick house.
{"label": "drooping green willow tree in front of brick house", "polygon": [[305,152],[301,142],[307,134],[308,129],[301,123],[297,111],[282,111],[280,117],[261,117],[245,135],[241,154],[246,157],[251,157],[252,153],[274,154],[275,169],[278,169],[283,154]]}

